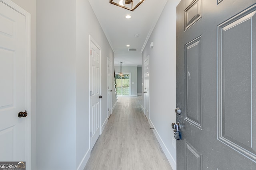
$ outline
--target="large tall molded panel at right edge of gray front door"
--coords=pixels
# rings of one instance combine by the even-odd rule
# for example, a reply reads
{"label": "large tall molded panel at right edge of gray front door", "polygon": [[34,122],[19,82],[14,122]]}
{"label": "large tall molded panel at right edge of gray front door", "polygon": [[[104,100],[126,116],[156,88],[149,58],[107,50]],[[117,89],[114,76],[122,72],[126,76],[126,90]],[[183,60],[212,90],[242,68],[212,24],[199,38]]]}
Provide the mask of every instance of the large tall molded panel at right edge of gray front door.
{"label": "large tall molded panel at right edge of gray front door", "polygon": [[218,25],[218,139],[256,161],[255,13],[252,6]]}

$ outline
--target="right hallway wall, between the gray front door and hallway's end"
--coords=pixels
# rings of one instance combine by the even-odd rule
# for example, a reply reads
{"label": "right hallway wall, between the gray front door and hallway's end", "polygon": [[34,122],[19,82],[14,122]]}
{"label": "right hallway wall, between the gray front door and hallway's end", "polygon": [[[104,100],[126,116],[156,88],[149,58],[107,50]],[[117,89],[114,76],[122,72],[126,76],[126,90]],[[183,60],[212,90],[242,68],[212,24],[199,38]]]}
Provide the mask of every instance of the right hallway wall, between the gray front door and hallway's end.
{"label": "right hallway wall, between the gray front door and hallway's end", "polygon": [[[144,75],[144,59],[148,55],[150,56],[150,122],[154,126],[158,141],[174,170],[176,170],[176,141],[174,148],[171,123],[176,123],[175,25],[178,3],[179,0],[167,1],[142,52],[142,75]],[[154,42],[152,49],[150,48],[151,42]],[[144,82],[144,76],[142,82]],[[144,104],[144,98],[142,104]]]}

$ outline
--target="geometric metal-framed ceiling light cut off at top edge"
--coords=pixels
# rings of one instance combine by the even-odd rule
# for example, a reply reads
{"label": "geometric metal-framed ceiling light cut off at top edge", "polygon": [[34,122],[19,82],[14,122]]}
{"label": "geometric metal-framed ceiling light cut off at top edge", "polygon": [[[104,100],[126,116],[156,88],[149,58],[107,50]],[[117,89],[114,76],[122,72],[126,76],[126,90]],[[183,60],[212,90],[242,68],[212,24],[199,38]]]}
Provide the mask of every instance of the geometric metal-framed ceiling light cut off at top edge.
{"label": "geometric metal-framed ceiling light cut off at top edge", "polygon": [[109,3],[133,11],[144,1],[145,0],[109,0]]}

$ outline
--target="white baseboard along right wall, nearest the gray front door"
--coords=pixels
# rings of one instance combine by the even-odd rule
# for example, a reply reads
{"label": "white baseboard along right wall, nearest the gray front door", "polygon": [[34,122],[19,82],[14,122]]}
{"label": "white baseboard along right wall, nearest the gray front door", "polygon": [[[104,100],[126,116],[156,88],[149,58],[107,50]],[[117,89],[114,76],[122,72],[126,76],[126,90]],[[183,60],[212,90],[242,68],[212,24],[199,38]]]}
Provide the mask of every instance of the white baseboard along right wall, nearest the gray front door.
{"label": "white baseboard along right wall, nearest the gray front door", "polygon": [[177,165],[176,165],[176,160],[174,160],[174,158],[173,158],[172,155],[170,154],[170,152],[169,152],[169,150],[167,149],[166,145],[164,144],[162,138],[160,137],[159,133],[157,132],[156,128],[154,127],[152,121],[151,121],[150,119],[148,119],[148,122],[149,122],[150,126],[151,126],[152,128],[154,128],[154,129],[153,129],[153,132],[154,132],[154,134],[155,134],[155,136],[156,136],[156,139],[158,140],[158,142],[159,142],[159,144],[160,144],[162,150],[164,151],[164,154],[166,155],[166,158],[168,159],[170,165],[172,166],[172,170],[177,170],[177,168],[176,168],[176,166],[177,166]]}

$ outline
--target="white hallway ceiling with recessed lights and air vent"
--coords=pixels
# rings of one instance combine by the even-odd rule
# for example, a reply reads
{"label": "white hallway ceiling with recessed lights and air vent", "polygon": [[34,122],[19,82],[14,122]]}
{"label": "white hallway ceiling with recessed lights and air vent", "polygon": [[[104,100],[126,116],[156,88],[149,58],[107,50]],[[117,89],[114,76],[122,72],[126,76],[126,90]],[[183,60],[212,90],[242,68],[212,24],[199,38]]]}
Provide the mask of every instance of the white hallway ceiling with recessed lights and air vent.
{"label": "white hallway ceiling with recessed lights and air vent", "polygon": [[[145,0],[134,11],[114,4],[109,0],[89,0],[92,9],[115,53],[114,64],[142,64],[142,51],[167,0]],[[130,15],[130,19],[125,16]],[[138,34],[138,37],[135,35]],[[130,45],[130,47],[126,47]],[[128,51],[128,48],[137,49]]]}

